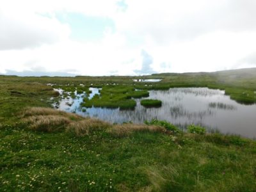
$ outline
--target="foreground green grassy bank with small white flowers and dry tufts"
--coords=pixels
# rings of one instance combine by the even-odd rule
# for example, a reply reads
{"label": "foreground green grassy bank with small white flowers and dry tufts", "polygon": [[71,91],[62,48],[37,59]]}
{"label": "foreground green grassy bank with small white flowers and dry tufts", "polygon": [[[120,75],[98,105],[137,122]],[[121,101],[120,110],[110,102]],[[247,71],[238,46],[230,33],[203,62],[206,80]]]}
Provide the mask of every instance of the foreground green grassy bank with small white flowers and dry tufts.
{"label": "foreground green grassy bank with small white flowers and dry tufts", "polygon": [[1,191],[256,190],[252,140],[170,132],[156,120],[111,125],[45,108],[20,118],[1,124]]}

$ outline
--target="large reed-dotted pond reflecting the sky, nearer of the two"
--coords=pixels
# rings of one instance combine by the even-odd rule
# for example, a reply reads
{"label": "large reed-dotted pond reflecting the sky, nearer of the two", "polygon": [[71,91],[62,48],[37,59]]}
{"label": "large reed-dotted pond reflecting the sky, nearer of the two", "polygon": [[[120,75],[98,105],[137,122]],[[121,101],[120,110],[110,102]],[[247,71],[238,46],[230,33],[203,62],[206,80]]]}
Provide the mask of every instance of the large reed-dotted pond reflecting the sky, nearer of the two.
{"label": "large reed-dotted pond reflecting the sky, nearer of the two", "polygon": [[[91,88],[93,95],[99,94],[97,88]],[[166,91],[152,90],[150,99],[162,100],[161,108],[144,108],[141,99],[135,99],[134,110],[106,108],[80,108],[84,94],[76,95],[76,99],[62,99],[59,109],[74,112],[83,116],[93,116],[112,123],[134,122],[157,118],[166,120],[186,128],[189,124],[202,125],[208,131],[220,131],[229,134],[240,134],[248,138],[256,138],[256,105],[238,104],[225,95],[224,91],[209,88],[170,88]]]}

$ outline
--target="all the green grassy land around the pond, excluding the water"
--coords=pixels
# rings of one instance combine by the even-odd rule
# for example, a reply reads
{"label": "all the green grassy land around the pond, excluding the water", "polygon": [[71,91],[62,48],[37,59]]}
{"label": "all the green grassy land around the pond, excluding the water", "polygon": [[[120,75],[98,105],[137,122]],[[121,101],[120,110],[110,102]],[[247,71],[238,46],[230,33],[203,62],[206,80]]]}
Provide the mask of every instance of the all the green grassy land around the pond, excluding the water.
{"label": "all the green grassy land around the pond, excluding the water", "polygon": [[[152,78],[163,80],[132,81]],[[147,90],[172,87],[220,88],[237,102],[256,102],[255,68],[142,77],[0,76],[0,191],[256,191],[255,141],[173,132],[165,122],[112,125],[44,109],[58,98],[47,83],[85,84],[81,92],[101,87],[116,103],[124,100],[120,86],[129,89],[125,101],[131,102]]]}

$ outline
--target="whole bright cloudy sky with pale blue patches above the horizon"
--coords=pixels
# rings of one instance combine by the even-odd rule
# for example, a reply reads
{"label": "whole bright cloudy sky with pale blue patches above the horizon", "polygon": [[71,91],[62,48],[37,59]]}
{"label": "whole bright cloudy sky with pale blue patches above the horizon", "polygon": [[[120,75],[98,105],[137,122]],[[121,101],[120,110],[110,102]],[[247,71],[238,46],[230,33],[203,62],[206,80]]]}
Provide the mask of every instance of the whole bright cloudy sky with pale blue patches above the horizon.
{"label": "whole bright cloudy sky with pale blue patches above the horizon", "polygon": [[0,0],[0,74],[256,67],[255,0]]}

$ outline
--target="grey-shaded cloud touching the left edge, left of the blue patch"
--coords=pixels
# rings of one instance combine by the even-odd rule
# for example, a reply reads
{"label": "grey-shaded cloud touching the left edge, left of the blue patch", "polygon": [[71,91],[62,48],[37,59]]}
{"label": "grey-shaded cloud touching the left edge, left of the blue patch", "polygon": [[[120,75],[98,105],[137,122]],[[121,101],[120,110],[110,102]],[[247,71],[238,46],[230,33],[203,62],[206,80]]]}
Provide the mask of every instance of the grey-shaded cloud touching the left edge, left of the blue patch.
{"label": "grey-shaded cloud touching the left edge, left of the blue patch", "polygon": [[56,19],[36,14],[15,15],[0,10],[0,51],[34,48],[67,38],[70,29]]}

